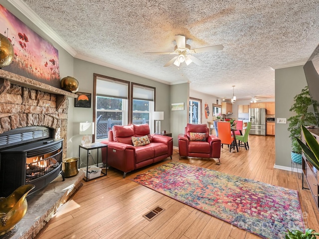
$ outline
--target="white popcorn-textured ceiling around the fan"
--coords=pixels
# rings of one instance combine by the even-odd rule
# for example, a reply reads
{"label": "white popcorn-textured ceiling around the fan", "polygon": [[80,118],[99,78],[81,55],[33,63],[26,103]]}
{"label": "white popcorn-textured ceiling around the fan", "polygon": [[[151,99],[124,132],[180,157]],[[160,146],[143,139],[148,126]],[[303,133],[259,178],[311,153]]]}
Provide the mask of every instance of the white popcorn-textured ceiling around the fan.
{"label": "white popcorn-textured ceiling around the fan", "polygon": [[[16,0],[9,0],[11,3]],[[20,0],[18,0],[20,1]],[[74,57],[219,98],[275,97],[275,71],[303,65],[319,44],[318,0],[23,0]],[[21,1],[21,3],[23,3]],[[12,3],[13,4],[13,3]],[[205,62],[163,67],[174,36]]]}

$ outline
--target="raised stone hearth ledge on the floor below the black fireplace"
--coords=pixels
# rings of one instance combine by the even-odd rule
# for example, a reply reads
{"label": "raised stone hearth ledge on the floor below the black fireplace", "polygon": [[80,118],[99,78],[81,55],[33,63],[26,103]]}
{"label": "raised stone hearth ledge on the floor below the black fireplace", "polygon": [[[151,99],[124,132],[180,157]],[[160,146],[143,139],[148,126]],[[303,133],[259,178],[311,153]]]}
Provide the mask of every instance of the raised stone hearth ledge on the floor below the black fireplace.
{"label": "raised stone hearth ledge on the floor below the black fireplace", "polygon": [[0,239],[32,239],[49,222],[54,213],[72,196],[82,185],[84,172],[79,170],[78,175],[62,181],[59,175],[45,188],[29,195],[26,200],[28,210],[15,228],[0,236]]}

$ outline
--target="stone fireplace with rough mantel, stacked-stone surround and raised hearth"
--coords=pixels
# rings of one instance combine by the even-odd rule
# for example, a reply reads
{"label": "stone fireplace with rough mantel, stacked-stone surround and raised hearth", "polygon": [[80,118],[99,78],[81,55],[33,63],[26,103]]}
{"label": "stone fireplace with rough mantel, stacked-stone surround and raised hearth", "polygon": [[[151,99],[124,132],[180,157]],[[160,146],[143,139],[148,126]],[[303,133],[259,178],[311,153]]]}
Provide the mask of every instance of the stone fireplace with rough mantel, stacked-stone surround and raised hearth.
{"label": "stone fireplace with rough mantel, stacked-stone surround and raised hearth", "polygon": [[[50,137],[63,139],[62,158],[66,158],[67,97],[76,98],[77,95],[0,69],[0,136],[23,127],[45,126],[53,131]],[[0,140],[0,150],[1,144]],[[60,205],[80,186],[83,176],[81,171],[64,182],[58,176],[44,188],[45,191],[30,195],[26,217],[18,223],[14,235],[7,237],[35,237]],[[39,208],[43,212],[39,212]]]}

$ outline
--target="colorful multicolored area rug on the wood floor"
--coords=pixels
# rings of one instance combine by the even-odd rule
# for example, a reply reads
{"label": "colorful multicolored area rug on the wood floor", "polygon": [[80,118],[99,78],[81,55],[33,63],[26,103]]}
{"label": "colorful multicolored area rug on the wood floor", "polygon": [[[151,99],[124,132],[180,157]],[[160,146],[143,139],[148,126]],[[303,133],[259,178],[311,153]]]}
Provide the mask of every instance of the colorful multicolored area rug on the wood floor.
{"label": "colorful multicolored area rug on the wood floor", "polygon": [[181,162],[166,163],[133,181],[261,238],[305,230],[298,192]]}

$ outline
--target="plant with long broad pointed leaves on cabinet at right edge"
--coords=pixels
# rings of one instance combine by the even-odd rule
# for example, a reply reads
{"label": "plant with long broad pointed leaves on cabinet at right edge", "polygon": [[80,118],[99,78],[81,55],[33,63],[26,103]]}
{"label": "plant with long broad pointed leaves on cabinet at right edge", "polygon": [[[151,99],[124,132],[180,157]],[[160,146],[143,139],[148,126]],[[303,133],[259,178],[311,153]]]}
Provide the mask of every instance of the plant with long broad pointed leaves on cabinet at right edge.
{"label": "plant with long broad pointed leaves on cabinet at right edge", "polygon": [[296,141],[304,151],[304,155],[319,170],[319,143],[309,130],[302,125],[302,130],[305,136],[307,145],[296,137]]}

